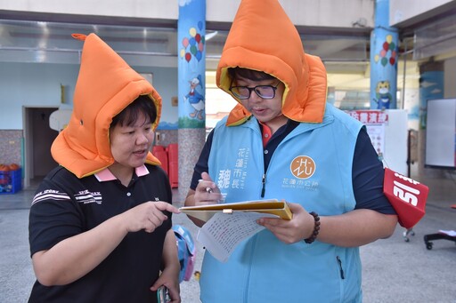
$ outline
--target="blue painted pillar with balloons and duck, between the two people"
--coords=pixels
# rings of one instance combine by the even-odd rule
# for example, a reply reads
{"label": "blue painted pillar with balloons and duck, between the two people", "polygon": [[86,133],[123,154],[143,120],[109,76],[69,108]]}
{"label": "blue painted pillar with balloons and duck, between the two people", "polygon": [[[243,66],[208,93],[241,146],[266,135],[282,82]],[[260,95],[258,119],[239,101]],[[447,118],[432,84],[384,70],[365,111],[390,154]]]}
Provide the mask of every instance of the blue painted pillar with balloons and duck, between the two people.
{"label": "blue painted pillar with balloons and duck, between the two people", "polygon": [[206,139],[206,0],[178,0],[178,158],[179,201]]}

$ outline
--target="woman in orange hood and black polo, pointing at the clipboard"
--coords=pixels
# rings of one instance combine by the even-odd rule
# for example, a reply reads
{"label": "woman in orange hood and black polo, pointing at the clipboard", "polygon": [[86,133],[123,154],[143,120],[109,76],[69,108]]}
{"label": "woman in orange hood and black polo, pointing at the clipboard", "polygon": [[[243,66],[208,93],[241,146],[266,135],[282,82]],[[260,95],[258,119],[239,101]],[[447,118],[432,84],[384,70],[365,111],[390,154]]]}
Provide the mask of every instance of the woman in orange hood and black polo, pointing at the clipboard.
{"label": "woman in orange hood and black polo, pointing at the clipboard", "polygon": [[[171,187],[150,152],[161,98],[98,36],[85,40],[60,166],[37,189],[30,302],[180,302]],[[160,275],[161,271],[161,275]]]}

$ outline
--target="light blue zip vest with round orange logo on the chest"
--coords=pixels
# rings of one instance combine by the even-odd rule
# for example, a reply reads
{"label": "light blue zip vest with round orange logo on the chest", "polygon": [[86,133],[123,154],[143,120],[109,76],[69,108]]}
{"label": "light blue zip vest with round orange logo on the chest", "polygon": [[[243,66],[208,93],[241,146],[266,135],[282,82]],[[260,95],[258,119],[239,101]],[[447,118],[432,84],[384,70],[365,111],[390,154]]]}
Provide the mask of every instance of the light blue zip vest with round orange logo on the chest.
{"label": "light blue zip vest with round orange logo on the chest", "polygon": [[[226,203],[284,199],[330,216],[352,211],[354,147],[362,124],[327,105],[322,124],[299,124],[281,141],[267,171],[256,118],[216,125],[210,176]],[[206,253],[200,276],[203,303],[361,302],[358,248],[318,240],[286,244],[263,230],[240,243],[226,263]]]}

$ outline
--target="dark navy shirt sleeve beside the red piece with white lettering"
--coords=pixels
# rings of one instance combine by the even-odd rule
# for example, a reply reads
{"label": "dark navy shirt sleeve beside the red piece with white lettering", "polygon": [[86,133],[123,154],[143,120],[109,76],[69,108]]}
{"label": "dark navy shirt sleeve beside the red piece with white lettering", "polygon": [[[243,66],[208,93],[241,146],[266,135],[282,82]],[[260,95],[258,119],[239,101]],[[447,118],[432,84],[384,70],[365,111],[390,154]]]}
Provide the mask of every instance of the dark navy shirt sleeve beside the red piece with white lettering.
{"label": "dark navy shirt sleeve beside the red piece with white lettering", "polygon": [[353,189],[355,209],[370,209],[384,214],[395,214],[395,209],[383,194],[385,171],[379,155],[372,146],[365,129],[358,134],[354,148]]}

